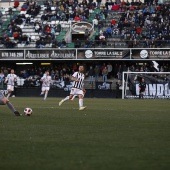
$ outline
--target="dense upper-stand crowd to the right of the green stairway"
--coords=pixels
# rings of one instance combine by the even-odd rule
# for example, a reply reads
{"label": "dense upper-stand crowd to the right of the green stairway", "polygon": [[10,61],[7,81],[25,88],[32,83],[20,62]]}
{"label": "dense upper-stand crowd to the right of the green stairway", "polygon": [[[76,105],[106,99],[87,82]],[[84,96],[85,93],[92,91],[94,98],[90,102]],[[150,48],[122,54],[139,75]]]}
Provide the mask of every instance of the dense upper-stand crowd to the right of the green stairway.
{"label": "dense upper-stand crowd to the right of the green stairway", "polygon": [[[106,19],[110,15],[111,23],[104,29],[102,24],[98,24],[100,33],[95,37],[97,42],[101,39],[107,40],[119,36],[120,42],[126,42],[128,48],[157,48],[170,43],[169,4],[158,4],[157,0],[145,0],[144,3],[140,0],[132,0],[132,2],[122,0],[107,1],[105,7],[107,10],[103,14]],[[115,13],[111,12],[109,8],[119,12],[118,19],[112,19]],[[99,21],[98,18],[97,14],[95,22],[96,19]]]}

